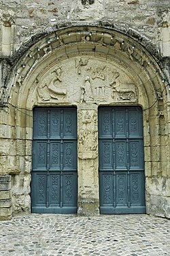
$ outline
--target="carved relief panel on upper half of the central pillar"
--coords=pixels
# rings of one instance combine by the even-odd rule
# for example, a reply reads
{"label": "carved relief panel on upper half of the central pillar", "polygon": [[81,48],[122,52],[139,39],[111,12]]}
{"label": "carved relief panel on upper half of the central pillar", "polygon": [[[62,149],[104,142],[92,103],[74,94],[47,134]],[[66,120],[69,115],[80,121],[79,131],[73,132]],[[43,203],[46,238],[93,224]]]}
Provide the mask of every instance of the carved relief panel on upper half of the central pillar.
{"label": "carved relief panel on upper half of the central pillar", "polygon": [[97,157],[97,112],[82,110],[78,112],[80,159],[95,159]]}

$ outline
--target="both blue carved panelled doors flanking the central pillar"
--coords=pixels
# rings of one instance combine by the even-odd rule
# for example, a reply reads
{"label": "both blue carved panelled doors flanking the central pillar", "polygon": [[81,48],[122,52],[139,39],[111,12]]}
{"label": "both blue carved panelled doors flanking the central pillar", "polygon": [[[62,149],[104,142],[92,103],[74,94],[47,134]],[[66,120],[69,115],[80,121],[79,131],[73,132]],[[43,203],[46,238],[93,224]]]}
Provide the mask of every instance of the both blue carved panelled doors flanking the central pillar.
{"label": "both blue carved panelled doors flanking the central pillar", "polygon": [[[142,125],[139,107],[99,108],[101,214],[146,212]],[[77,212],[77,162],[76,109],[35,108],[32,212]]]}

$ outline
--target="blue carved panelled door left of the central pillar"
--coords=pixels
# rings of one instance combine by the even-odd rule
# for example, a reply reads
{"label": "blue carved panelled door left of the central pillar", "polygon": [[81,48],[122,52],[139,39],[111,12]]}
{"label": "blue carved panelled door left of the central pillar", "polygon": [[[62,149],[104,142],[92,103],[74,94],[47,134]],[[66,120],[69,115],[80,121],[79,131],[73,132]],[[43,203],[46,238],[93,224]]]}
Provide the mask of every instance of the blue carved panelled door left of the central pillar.
{"label": "blue carved panelled door left of the central pillar", "polygon": [[32,212],[77,212],[77,117],[75,108],[33,112]]}

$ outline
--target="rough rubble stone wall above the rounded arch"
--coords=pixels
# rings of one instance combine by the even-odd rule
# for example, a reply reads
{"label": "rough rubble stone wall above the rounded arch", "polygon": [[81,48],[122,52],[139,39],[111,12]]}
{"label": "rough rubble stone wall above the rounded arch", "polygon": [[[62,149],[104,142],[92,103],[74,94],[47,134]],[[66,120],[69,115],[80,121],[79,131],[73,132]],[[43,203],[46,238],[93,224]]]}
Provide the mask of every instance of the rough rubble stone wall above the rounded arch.
{"label": "rough rubble stone wall above the rounded arch", "polygon": [[169,56],[169,1],[3,1],[1,5],[2,53],[9,56],[51,29],[79,22],[112,25],[124,33],[136,31],[139,40],[147,37],[165,56]]}

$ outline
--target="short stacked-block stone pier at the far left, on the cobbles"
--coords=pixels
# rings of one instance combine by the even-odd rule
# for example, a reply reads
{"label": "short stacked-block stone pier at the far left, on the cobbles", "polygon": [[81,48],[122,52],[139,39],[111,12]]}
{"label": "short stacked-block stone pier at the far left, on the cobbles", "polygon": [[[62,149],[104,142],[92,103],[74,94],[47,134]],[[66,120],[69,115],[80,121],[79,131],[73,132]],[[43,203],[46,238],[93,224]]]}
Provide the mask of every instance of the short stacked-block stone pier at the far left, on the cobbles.
{"label": "short stacked-block stone pier at the far left, on the cobbles", "polygon": [[12,219],[11,176],[0,176],[0,221]]}

